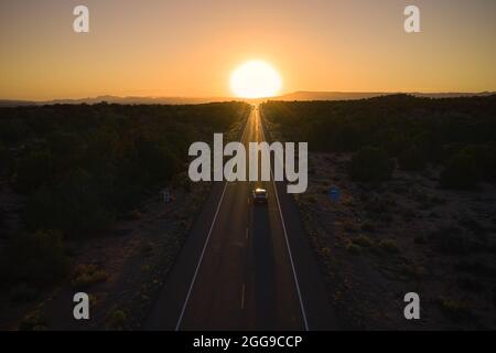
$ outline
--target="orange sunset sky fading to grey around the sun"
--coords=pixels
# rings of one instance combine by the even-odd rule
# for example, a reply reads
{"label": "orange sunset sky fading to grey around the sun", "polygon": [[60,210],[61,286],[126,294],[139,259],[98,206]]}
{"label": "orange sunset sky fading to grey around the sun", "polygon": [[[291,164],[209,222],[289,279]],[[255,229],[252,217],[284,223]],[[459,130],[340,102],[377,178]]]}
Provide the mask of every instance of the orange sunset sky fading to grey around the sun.
{"label": "orange sunset sky fading to grey around the sun", "polygon": [[[407,4],[422,33],[405,33]],[[249,60],[282,93],[496,90],[495,0],[2,0],[0,39],[7,99],[231,96]]]}

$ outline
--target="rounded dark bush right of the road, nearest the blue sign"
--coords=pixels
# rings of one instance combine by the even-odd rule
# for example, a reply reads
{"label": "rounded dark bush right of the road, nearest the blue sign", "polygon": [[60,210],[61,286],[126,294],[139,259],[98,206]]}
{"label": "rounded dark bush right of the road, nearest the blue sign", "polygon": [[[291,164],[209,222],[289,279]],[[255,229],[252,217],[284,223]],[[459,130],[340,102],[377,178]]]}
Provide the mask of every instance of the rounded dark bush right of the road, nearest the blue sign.
{"label": "rounded dark bush right of the road, nearest the blue sign", "polygon": [[391,178],[392,163],[385,150],[365,147],[353,156],[349,165],[352,179],[364,182],[380,182]]}

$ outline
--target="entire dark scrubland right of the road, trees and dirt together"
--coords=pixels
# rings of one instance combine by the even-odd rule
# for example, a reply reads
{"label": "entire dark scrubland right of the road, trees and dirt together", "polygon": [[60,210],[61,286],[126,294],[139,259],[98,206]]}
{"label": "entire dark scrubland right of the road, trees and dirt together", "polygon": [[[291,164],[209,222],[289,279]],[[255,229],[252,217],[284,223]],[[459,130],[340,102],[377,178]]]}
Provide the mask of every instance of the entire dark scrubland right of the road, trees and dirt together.
{"label": "entire dark scrubland right of the road, trees and dirt together", "polygon": [[295,203],[344,329],[494,330],[496,96],[262,109],[273,138],[309,142]]}

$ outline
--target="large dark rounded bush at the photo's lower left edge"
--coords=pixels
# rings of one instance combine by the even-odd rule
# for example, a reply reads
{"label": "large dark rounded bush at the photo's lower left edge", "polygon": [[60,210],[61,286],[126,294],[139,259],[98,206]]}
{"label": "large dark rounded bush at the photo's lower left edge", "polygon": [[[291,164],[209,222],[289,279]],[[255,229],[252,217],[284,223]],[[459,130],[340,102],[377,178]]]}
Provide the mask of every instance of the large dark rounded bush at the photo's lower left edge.
{"label": "large dark rounded bush at the photo's lower left edge", "polygon": [[2,257],[2,280],[40,287],[58,281],[69,266],[62,242],[62,234],[54,231],[13,235]]}

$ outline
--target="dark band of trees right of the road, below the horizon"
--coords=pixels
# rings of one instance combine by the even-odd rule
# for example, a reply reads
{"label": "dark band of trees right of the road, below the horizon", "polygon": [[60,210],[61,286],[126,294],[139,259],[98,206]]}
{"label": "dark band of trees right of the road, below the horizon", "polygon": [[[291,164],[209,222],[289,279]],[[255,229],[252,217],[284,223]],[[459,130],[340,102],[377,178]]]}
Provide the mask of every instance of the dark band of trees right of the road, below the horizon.
{"label": "dark band of trees right of the road, below the horizon", "polygon": [[352,152],[349,175],[388,180],[393,168],[442,168],[440,184],[476,188],[496,181],[496,96],[348,101],[269,101],[263,111],[289,141],[313,151]]}

